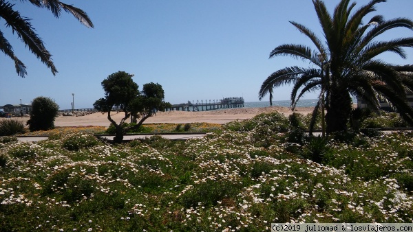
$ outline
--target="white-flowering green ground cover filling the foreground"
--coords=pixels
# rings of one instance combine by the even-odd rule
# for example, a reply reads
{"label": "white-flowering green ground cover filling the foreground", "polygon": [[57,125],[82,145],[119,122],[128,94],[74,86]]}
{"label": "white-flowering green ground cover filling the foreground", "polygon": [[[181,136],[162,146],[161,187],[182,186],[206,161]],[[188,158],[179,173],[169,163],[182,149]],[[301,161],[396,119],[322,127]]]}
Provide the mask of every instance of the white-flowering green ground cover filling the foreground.
{"label": "white-flowering green ground cover filling the foreground", "polygon": [[410,132],[297,139],[292,131],[272,113],[188,141],[3,137],[0,228],[268,231],[271,222],[413,222]]}

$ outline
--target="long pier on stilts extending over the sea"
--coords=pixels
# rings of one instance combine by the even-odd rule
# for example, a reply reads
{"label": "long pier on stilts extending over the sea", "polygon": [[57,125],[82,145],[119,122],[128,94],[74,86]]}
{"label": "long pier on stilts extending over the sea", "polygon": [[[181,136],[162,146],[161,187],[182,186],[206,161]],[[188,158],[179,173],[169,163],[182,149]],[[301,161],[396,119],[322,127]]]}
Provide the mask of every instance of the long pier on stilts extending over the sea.
{"label": "long pier on stilts extending over the sea", "polygon": [[244,98],[226,97],[222,100],[197,100],[187,103],[174,104],[167,111],[213,111],[220,108],[244,107]]}

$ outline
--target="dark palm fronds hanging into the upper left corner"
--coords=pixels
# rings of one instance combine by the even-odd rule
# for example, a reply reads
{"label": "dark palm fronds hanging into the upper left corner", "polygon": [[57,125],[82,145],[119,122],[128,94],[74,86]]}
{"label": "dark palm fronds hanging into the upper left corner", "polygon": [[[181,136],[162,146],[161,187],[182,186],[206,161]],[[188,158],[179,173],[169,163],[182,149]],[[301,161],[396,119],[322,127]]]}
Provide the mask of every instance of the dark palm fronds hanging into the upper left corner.
{"label": "dark palm fronds hanging into the upper left corner", "polygon": [[[64,10],[65,12],[69,12],[73,14],[73,16],[78,19],[83,25],[87,27],[94,27],[92,21],[89,19],[87,14],[79,9],[75,8],[73,5],[67,5],[62,3],[59,0],[48,0],[48,1],[41,1],[41,0],[21,0],[21,1],[30,1],[33,5],[39,8],[46,8],[50,10],[52,14],[56,18],[59,18],[61,15],[61,11]],[[14,4],[9,3],[8,1],[0,0],[0,19],[4,19],[6,21],[6,27],[10,27],[13,32],[19,36],[21,41],[25,43],[26,47],[32,53],[41,60],[53,73],[56,75],[57,69],[54,66],[52,61],[52,55],[43,45],[43,41],[41,38],[34,32],[34,27],[30,23],[30,19],[27,19],[20,15],[17,10],[13,9]],[[3,36],[3,33],[0,30],[0,50],[3,51],[6,56],[9,56],[14,60],[14,66],[16,67],[17,75],[21,76],[22,78],[27,75],[26,67],[19,58],[14,54],[12,45],[8,42],[8,40]]]}

